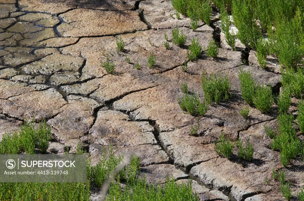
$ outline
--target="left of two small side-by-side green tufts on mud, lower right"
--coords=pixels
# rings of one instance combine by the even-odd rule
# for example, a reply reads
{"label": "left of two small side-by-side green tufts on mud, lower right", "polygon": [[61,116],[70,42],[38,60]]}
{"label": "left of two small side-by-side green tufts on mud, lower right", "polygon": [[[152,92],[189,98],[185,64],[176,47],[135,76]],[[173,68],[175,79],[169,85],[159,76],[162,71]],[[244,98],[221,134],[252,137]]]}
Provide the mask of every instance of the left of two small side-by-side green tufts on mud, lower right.
{"label": "left of two small side-by-side green tufts on mud, lower right", "polygon": [[224,134],[221,134],[219,141],[215,143],[214,150],[219,156],[230,159],[233,154],[233,144],[225,138]]}

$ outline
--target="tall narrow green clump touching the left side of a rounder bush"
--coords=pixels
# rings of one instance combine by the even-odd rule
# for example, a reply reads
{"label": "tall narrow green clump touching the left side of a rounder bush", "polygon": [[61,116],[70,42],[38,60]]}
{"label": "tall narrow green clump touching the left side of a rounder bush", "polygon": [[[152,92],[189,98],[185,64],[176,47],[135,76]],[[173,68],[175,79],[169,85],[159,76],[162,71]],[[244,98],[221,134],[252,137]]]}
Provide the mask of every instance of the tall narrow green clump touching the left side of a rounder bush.
{"label": "tall narrow green clump touching the left side of a rounder bush", "polygon": [[238,76],[241,81],[242,97],[247,104],[252,105],[254,102],[254,88],[256,85],[253,77],[251,76],[250,71],[244,71],[242,68],[240,68]]}

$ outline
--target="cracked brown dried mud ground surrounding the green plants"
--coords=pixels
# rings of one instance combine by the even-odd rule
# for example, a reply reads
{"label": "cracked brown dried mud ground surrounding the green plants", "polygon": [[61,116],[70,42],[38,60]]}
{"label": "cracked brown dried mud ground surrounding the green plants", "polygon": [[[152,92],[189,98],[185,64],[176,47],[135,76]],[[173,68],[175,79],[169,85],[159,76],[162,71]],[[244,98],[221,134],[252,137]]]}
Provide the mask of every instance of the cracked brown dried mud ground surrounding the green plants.
{"label": "cracked brown dried mud ground surrounding the green plants", "polygon": [[[183,72],[191,39],[198,37],[205,49],[216,33],[203,23],[192,31],[188,18],[171,18],[170,0],[0,0],[0,6],[0,139],[35,116],[52,127],[56,140],[50,143],[51,153],[63,153],[66,145],[73,152],[81,142],[96,163],[112,144],[117,155],[140,157],[149,183],[164,183],[167,175],[178,182],[190,177],[201,200],[282,200],[278,185],[271,188],[264,180],[280,164],[263,129],[266,123],[275,125],[276,110],[266,115],[250,108],[248,120],[240,116],[246,106],[237,75],[242,53],[226,48],[223,34],[218,60],[202,55]],[[213,27],[218,20],[214,13]],[[183,48],[172,42],[175,26],[185,33]],[[116,51],[117,35],[125,41],[124,52]],[[150,52],[157,58],[154,68],[147,66]],[[115,63],[114,74],[100,65],[107,53]],[[141,70],[133,67],[136,61]],[[252,52],[248,61],[242,67],[277,92],[281,75],[275,59],[268,58],[268,71],[258,68]],[[203,98],[203,70],[227,73],[235,96],[210,106],[200,119],[199,135],[191,136],[195,117],[183,113],[176,100],[182,82]],[[221,133],[231,140],[249,137],[254,161],[243,164],[217,156],[214,142]],[[292,167],[286,174],[295,192],[304,174]]]}

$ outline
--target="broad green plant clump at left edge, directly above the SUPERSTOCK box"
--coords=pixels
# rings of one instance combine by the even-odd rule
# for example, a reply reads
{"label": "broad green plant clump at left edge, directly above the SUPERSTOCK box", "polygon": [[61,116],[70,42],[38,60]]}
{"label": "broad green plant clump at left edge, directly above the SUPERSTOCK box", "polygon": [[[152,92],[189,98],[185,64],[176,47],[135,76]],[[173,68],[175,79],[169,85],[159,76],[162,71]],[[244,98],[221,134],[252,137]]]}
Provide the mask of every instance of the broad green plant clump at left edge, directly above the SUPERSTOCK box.
{"label": "broad green plant clump at left edge, directly above the SUPERSTOCK box", "polygon": [[51,139],[50,126],[45,121],[35,125],[26,121],[18,132],[5,133],[0,141],[0,154],[35,154],[36,148],[45,153]]}

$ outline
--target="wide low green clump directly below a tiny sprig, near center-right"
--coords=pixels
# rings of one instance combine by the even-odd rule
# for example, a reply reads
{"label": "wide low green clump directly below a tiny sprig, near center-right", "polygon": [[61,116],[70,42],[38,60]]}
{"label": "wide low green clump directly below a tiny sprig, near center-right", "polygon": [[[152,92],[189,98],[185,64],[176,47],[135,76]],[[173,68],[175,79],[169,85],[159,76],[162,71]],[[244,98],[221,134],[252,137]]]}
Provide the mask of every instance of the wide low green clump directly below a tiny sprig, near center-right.
{"label": "wide low green clump directly below a tiny sprig, near center-right", "polygon": [[199,96],[195,93],[184,94],[182,97],[178,97],[177,102],[182,110],[187,111],[192,116],[203,116],[209,107],[206,101],[201,103]]}

